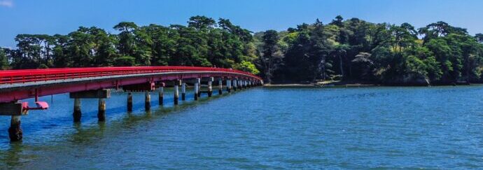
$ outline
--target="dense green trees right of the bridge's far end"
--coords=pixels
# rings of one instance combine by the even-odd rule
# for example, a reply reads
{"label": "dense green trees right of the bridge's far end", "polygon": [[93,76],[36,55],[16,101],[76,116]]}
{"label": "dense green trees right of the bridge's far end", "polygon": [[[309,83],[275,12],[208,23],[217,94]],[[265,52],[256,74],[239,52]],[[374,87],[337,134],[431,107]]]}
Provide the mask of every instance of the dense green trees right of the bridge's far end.
{"label": "dense green trees right of the bridge's far end", "polygon": [[470,36],[445,22],[415,29],[408,23],[373,24],[337,16],[329,24],[316,20],[254,37],[265,42],[258,65],[267,80],[276,82],[426,85],[483,80],[483,35]]}

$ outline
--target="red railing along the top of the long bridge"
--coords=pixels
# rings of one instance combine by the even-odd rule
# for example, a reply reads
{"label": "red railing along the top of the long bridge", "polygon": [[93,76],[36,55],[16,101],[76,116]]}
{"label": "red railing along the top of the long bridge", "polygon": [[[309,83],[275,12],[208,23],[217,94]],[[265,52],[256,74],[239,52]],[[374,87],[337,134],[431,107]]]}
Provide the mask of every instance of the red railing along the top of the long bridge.
{"label": "red railing along the top of the long bridge", "polygon": [[232,69],[195,67],[195,66],[123,66],[123,67],[87,67],[66,69],[24,69],[0,71],[0,85],[14,83],[29,83],[47,80],[65,80],[71,78],[89,78],[98,76],[118,76],[141,73],[165,73],[183,71],[223,71],[241,73],[261,80],[260,77],[245,71]]}

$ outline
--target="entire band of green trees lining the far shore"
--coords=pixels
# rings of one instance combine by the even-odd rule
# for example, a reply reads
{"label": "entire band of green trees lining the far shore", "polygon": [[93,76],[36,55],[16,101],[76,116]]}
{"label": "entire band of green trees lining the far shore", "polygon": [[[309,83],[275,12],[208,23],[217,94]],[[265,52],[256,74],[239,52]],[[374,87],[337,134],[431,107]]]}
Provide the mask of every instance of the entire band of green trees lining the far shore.
{"label": "entire band of green trees lining the far shore", "polygon": [[0,69],[87,66],[213,66],[258,74],[266,83],[328,80],[381,85],[483,82],[483,34],[435,22],[316,20],[286,31],[253,33],[205,16],[187,25],[120,22],[112,34],[79,27],[67,35],[19,34],[0,48]]}

